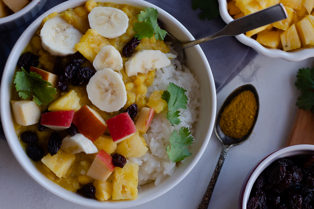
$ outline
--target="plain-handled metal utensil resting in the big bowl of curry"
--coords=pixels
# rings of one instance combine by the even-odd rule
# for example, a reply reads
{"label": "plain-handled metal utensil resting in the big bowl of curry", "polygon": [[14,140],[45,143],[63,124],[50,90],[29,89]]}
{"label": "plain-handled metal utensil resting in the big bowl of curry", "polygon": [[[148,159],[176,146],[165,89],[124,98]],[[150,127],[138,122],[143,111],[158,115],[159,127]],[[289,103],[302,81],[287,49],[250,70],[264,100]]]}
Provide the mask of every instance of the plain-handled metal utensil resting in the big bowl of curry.
{"label": "plain-handled metal utensil resting in the big bowl of curry", "polygon": [[238,18],[225,26],[224,29],[217,33],[206,36],[201,39],[196,39],[193,41],[181,42],[176,39],[173,35],[168,34],[165,37],[165,41],[172,42],[174,50],[178,52],[178,60],[182,63],[183,61],[183,49],[201,44],[203,42],[221,37],[221,36],[236,36],[243,34],[247,31],[257,29],[264,25],[268,25],[274,22],[288,18],[288,14],[284,5],[282,3],[275,6],[263,9],[256,13],[246,15],[244,17]]}

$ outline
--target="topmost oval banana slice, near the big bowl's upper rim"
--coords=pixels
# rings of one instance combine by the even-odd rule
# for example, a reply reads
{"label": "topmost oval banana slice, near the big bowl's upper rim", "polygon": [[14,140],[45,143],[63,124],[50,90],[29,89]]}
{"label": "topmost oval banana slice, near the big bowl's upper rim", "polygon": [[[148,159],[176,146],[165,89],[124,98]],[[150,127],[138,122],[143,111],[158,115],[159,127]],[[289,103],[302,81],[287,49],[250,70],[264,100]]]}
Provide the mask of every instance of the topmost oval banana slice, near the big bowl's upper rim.
{"label": "topmost oval banana slice, near the big bowl's upper rim", "polygon": [[89,26],[105,38],[113,39],[127,31],[129,18],[120,9],[94,7],[88,14]]}

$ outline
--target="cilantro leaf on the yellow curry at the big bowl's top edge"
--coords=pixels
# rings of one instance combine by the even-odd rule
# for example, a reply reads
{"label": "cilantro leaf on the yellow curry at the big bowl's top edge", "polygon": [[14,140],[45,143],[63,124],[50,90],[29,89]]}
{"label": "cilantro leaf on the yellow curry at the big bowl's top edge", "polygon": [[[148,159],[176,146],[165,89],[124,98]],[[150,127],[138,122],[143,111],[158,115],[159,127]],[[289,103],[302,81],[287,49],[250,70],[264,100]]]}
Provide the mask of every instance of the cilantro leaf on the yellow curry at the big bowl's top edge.
{"label": "cilantro leaf on the yellow curry at the big bowl's top edge", "polygon": [[137,21],[140,23],[134,23],[133,30],[136,32],[134,36],[141,40],[143,38],[151,38],[155,34],[155,39],[164,40],[167,31],[160,29],[157,24],[158,10],[154,8],[145,8],[145,12],[141,11],[137,15]]}

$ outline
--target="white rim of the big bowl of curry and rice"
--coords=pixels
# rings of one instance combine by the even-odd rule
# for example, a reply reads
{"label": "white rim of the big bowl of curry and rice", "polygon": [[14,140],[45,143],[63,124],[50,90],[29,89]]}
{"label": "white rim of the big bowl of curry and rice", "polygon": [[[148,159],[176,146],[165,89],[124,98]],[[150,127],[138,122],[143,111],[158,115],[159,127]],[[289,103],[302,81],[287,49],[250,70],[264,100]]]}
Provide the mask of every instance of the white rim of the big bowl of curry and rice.
{"label": "white rim of the big bowl of curry and rice", "polygon": [[[46,176],[41,174],[41,172],[38,169],[30,168],[29,166],[33,165],[32,162],[28,158],[26,159],[24,157],[25,153],[19,154],[19,150],[21,149],[22,146],[20,145],[20,142],[16,136],[15,131],[14,131],[14,133],[11,133],[12,130],[14,130],[14,128],[11,129],[13,126],[13,122],[12,122],[12,114],[11,114],[11,105],[9,104],[10,102],[8,102],[8,98],[10,100],[11,90],[10,89],[9,89],[9,91],[5,91],[5,90],[8,90],[8,88],[10,88],[12,86],[12,83],[13,83],[11,79],[8,79],[8,77],[10,75],[9,69],[13,63],[12,59],[14,58],[14,54],[17,52],[19,45],[23,44],[24,37],[30,31],[35,31],[39,27],[39,25],[41,24],[42,19],[45,18],[46,16],[48,16],[49,14],[51,14],[52,12],[55,12],[55,11],[59,12],[59,11],[64,11],[67,8],[74,8],[78,5],[82,5],[85,2],[86,2],[86,0],[70,0],[70,1],[61,3],[61,4],[51,8],[47,12],[43,13],[39,18],[37,18],[32,24],[30,24],[30,26],[24,31],[24,33],[20,36],[20,38],[18,39],[18,41],[14,45],[14,47],[11,50],[11,53],[8,57],[6,65],[4,67],[3,77],[2,77],[2,81],[1,81],[1,87],[0,87],[0,109],[1,109],[0,112],[1,112],[1,120],[2,120],[2,124],[3,124],[3,130],[4,130],[5,136],[7,138],[9,147],[12,150],[14,157],[17,159],[17,161],[19,162],[21,167],[26,171],[26,173],[33,180],[35,180],[39,185],[41,185],[41,187],[43,187],[47,191],[51,192],[52,194],[54,194],[54,195],[56,195],[56,196],[58,196],[64,200],[70,201],[72,203],[82,205],[82,206],[87,206],[87,207],[94,207],[94,208],[104,208],[104,206],[106,208],[126,208],[126,207],[140,205],[140,204],[151,201],[151,200],[165,194],[167,191],[171,190],[174,186],[176,186],[181,180],[183,180],[183,178],[192,170],[192,168],[197,164],[198,160],[201,158],[203,152],[205,151],[205,149],[207,147],[210,136],[212,134],[212,130],[214,128],[215,115],[216,115],[216,90],[215,90],[214,78],[213,78],[210,66],[208,64],[208,61],[206,59],[206,56],[205,56],[203,50],[201,49],[201,47],[199,45],[194,46],[194,47],[198,51],[199,56],[201,57],[201,59],[204,62],[204,65],[205,65],[204,70],[207,72],[208,79],[211,82],[211,84],[210,84],[211,85],[211,92],[210,93],[212,95],[212,101],[211,101],[212,104],[210,104],[210,105],[212,106],[211,115],[213,117],[210,119],[210,122],[208,124],[209,128],[207,130],[207,133],[204,134],[205,135],[204,141],[201,144],[200,149],[198,150],[197,153],[195,153],[195,157],[191,160],[190,164],[187,165],[184,172],[180,173],[176,177],[176,179],[172,180],[165,188],[163,188],[162,190],[159,189],[159,191],[154,192],[154,194],[150,195],[148,198],[142,198],[142,199],[136,199],[136,200],[124,200],[124,201],[95,201],[93,199],[84,198],[82,196],[80,196],[80,198],[77,198],[77,196],[75,196],[75,193],[67,191],[67,190],[63,189],[61,186],[54,183],[53,181],[49,180],[48,178],[46,178]],[[97,2],[100,2],[100,0],[98,0]],[[106,1],[101,0],[101,2],[106,2]],[[142,8],[146,8],[146,7],[157,8],[159,11],[159,14],[162,17],[167,18],[168,21],[176,24],[176,26],[184,32],[184,35],[187,36],[187,39],[190,39],[190,40],[194,39],[192,34],[189,33],[188,30],[179,21],[177,21],[174,17],[172,17],[169,13],[165,12],[163,9],[161,9],[161,8],[151,4],[151,3],[145,2],[143,0],[111,0],[111,1],[109,0],[107,2],[124,3],[124,4],[129,4],[129,5],[138,5],[138,7],[142,7]],[[14,69],[15,69],[15,64],[14,64]],[[8,109],[10,111],[8,111]],[[158,185],[155,186],[155,188],[157,188],[157,187],[158,187]],[[63,189],[65,191],[60,190],[60,189]],[[60,191],[62,191],[62,193],[66,193],[68,195],[62,196]],[[70,194],[70,193],[72,193],[72,194]]]}

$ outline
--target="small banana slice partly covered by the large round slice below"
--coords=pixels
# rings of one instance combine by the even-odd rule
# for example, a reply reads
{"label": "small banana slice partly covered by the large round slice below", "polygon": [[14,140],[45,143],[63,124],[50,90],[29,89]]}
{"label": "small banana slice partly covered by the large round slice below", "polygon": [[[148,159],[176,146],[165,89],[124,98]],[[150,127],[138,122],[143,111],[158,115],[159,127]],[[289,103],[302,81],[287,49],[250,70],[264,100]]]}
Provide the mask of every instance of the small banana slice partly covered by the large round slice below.
{"label": "small banana slice partly covered by the large round slice below", "polygon": [[120,72],[123,68],[121,54],[111,45],[104,46],[96,55],[95,60],[93,61],[93,66],[96,71],[110,68],[111,70]]}

